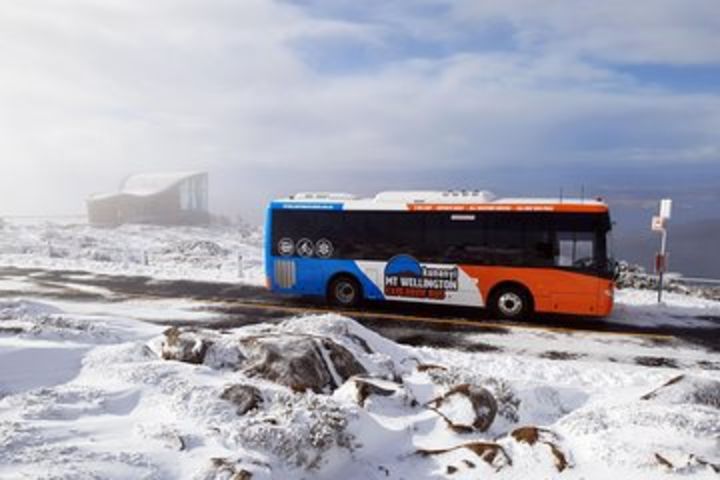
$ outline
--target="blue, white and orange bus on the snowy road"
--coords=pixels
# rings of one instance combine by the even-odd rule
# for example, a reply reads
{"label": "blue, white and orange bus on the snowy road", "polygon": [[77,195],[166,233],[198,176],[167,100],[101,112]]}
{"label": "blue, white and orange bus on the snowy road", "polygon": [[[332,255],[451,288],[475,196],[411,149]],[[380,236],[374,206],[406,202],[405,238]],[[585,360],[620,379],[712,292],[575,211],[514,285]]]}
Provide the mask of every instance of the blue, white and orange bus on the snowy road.
{"label": "blue, white and orange bus on the snowy road", "polygon": [[602,200],[486,191],[300,193],[270,203],[267,286],[354,307],[364,300],[473,306],[504,319],[610,313]]}

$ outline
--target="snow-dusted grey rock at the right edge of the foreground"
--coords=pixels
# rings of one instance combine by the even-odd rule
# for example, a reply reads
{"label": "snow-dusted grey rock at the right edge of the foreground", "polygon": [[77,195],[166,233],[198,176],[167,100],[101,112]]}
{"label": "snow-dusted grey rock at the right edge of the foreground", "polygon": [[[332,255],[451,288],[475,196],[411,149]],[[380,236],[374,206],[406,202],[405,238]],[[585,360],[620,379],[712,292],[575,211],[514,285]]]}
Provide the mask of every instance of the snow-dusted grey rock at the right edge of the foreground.
{"label": "snow-dusted grey rock at the right edge of the foreground", "polygon": [[689,403],[720,409],[720,382],[709,378],[678,375],[640,398],[670,404]]}

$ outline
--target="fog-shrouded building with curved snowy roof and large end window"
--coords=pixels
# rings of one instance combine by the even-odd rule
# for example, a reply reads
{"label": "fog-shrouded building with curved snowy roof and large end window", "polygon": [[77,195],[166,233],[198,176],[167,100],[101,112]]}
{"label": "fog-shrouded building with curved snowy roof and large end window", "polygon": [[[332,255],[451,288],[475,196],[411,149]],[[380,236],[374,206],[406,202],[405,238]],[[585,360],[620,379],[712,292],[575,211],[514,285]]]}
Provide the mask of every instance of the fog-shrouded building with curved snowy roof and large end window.
{"label": "fog-shrouded building with curved snowy roof and large end window", "polygon": [[92,225],[209,223],[206,172],[149,173],[128,177],[117,193],[87,200]]}

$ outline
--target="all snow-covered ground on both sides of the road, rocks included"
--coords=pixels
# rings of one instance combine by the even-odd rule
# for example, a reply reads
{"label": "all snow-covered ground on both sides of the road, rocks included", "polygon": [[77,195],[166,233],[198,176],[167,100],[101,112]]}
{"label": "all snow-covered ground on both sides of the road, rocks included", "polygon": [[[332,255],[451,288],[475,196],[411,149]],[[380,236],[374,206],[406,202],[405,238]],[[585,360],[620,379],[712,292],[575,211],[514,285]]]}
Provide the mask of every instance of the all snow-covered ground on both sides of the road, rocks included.
{"label": "all snow-covered ground on both sides of the road, rocks included", "polygon": [[[245,281],[262,278],[260,235],[231,229],[0,233],[2,265],[235,282],[242,252]],[[0,298],[3,479],[720,474],[720,353],[693,343],[508,327],[433,348],[335,314],[168,330],[156,322],[208,313],[93,287],[39,299],[28,285],[0,278],[14,292]],[[717,332],[705,329],[720,303],[653,299],[618,292],[609,321]]]}

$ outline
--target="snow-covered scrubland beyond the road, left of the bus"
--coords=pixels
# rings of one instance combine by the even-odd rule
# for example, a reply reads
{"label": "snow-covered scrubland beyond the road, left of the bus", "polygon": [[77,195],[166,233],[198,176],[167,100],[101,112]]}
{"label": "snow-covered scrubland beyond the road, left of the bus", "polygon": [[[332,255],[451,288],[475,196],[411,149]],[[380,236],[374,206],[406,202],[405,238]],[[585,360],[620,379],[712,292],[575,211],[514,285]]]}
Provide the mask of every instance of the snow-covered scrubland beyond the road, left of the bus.
{"label": "snow-covered scrubland beyond the road, left of the bus", "polygon": [[158,279],[265,283],[262,233],[232,227],[6,222],[0,265]]}

